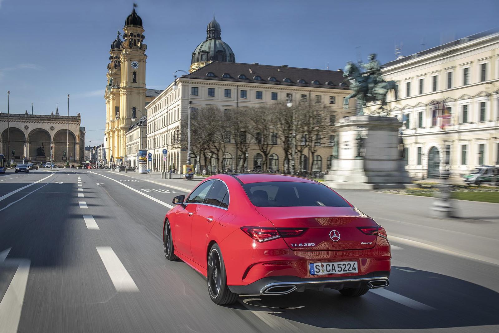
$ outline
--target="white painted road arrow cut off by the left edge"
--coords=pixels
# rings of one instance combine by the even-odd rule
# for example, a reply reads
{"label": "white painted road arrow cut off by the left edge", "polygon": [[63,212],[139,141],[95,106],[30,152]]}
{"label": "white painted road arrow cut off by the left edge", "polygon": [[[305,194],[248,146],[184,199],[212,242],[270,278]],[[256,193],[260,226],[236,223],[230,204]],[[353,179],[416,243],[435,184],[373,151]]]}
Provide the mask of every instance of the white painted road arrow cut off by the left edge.
{"label": "white painted road arrow cut off by the left edge", "polygon": [[0,264],[17,265],[17,270],[0,302],[0,333],[17,332],[31,265],[28,259],[5,259],[9,251],[0,252]]}

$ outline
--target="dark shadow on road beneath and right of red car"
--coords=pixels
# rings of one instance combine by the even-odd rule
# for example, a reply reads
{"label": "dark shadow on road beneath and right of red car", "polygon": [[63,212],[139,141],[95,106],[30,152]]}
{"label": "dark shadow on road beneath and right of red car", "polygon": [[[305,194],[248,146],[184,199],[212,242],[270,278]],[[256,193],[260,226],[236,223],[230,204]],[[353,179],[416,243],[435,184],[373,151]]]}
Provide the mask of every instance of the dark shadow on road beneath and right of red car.
{"label": "dark shadow on road beneath and right of red car", "polygon": [[388,293],[370,291],[347,298],[336,290],[308,290],[240,300],[249,310],[320,328],[434,329],[499,324],[497,292],[450,276],[393,268],[404,271],[392,270]]}

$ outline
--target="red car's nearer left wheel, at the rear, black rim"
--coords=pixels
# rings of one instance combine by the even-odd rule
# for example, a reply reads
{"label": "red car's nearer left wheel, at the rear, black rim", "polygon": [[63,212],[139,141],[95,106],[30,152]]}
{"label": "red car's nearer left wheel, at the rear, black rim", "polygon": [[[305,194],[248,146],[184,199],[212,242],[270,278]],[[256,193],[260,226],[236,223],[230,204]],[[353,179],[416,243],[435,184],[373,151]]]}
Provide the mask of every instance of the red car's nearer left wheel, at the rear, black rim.
{"label": "red car's nearer left wheel, at the rear, black rim", "polygon": [[208,294],[215,304],[229,305],[238,300],[239,295],[231,292],[227,286],[227,272],[225,269],[224,258],[218,244],[214,244],[208,255]]}

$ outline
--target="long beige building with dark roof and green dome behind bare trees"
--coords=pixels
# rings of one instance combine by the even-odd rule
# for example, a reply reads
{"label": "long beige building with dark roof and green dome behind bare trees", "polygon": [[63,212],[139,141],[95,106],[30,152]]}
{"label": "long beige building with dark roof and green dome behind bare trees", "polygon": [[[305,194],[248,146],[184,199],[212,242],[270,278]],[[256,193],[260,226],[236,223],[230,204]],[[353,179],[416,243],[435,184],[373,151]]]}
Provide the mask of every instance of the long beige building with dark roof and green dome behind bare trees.
{"label": "long beige building with dark roof and green dome behind bare trees", "polygon": [[[349,109],[342,107],[343,98],[351,91],[343,83],[341,71],[236,63],[232,49],[221,41],[220,35],[220,24],[213,19],[208,24],[207,39],[192,54],[192,72],[172,82],[147,105],[147,150],[153,155],[150,169],[168,171],[174,165],[181,172],[181,166],[186,164],[187,149],[182,149],[179,138],[186,137],[182,132],[187,128],[181,124],[182,119],[188,117],[189,105],[192,112],[205,106],[230,110],[286,101],[291,96],[295,103],[329,108],[331,116],[323,119],[324,126],[332,126],[334,119],[354,114],[354,101]],[[297,156],[296,170],[300,164],[312,163],[314,171],[325,172],[330,166],[331,141],[331,137],[321,138],[323,147],[317,151],[314,161],[306,160],[306,152]],[[277,138],[274,142],[269,167],[282,170],[285,156]],[[223,157],[223,168],[261,168],[262,155],[256,144],[250,146],[245,166],[241,165],[234,141],[229,145],[232,145],[231,153]],[[166,161],[163,149],[168,152]]]}

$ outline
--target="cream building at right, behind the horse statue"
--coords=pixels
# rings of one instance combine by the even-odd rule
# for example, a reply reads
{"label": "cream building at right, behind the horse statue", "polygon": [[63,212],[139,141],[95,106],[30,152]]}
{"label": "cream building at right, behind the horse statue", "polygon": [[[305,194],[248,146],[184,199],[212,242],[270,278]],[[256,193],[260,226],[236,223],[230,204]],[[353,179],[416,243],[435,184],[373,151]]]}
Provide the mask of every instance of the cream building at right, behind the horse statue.
{"label": "cream building at right, behind the horse statue", "polygon": [[[405,123],[406,169],[435,177],[449,164],[451,176],[478,165],[499,164],[499,33],[483,32],[384,65],[398,85],[389,115]],[[376,112],[379,104],[365,108]]]}

